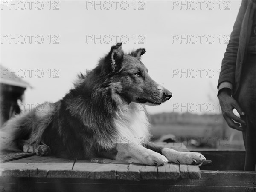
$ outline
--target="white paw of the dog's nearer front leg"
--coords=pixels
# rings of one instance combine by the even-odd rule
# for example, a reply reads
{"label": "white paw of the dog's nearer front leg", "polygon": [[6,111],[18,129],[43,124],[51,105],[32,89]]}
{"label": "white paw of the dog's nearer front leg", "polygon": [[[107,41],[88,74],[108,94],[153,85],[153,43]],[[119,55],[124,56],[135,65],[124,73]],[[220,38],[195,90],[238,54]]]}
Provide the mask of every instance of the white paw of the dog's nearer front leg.
{"label": "white paw of the dog's nearer front leg", "polygon": [[168,159],[160,153],[152,151],[145,155],[145,159],[141,163],[151,166],[163,166],[163,164],[168,163]]}

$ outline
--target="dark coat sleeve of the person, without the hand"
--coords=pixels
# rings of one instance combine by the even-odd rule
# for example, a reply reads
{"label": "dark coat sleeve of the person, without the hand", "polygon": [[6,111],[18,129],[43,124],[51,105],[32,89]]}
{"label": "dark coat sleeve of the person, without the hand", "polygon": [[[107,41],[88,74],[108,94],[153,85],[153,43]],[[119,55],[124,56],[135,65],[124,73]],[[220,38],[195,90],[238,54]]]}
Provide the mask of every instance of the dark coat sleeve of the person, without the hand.
{"label": "dark coat sleeve of the person, without the hand", "polygon": [[218,88],[220,84],[224,81],[230,82],[234,87],[239,36],[241,31],[241,24],[244,18],[245,11],[247,9],[247,3],[248,0],[242,0],[241,2],[236,22],[233,26],[233,31],[231,32],[230,40],[221,63],[221,72],[218,80]]}

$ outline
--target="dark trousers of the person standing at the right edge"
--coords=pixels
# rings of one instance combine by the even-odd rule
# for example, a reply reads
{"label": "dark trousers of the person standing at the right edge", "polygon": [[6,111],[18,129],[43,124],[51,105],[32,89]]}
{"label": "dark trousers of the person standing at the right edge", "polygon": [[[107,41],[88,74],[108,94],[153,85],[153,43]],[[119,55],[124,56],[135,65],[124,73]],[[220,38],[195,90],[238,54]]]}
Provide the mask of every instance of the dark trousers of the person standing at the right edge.
{"label": "dark trousers of the person standing at the right edge", "polygon": [[[256,45],[255,45],[256,46]],[[248,53],[241,74],[241,86],[238,103],[244,110],[241,117],[247,125],[244,126],[243,138],[246,150],[246,171],[256,171],[256,54]]]}

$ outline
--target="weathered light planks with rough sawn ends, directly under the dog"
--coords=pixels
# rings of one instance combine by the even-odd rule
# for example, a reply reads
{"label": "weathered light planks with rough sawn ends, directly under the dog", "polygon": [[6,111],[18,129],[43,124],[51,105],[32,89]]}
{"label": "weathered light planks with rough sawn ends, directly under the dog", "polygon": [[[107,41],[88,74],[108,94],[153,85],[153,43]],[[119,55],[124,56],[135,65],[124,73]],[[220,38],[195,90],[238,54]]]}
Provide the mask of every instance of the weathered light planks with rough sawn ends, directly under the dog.
{"label": "weathered light planks with rough sawn ends, directly under the dog", "polygon": [[[180,151],[188,151],[183,143],[157,143]],[[15,154],[18,156],[15,157]],[[23,157],[22,157],[23,155]],[[29,155],[29,157],[28,157]],[[150,179],[198,179],[198,166],[183,166],[168,163],[165,166],[143,166],[134,163],[99,164],[86,160],[67,160],[51,156],[31,156],[27,153],[4,154],[1,158],[1,175],[25,178],[83,178],[108,180],[150,180]],[[180,172],[180,170],[182,172]],[[184,174],[183,172],[186,172]],[[182,174],[181,174],[182,173]],[[181,176],[182,175],[182,176]]]}

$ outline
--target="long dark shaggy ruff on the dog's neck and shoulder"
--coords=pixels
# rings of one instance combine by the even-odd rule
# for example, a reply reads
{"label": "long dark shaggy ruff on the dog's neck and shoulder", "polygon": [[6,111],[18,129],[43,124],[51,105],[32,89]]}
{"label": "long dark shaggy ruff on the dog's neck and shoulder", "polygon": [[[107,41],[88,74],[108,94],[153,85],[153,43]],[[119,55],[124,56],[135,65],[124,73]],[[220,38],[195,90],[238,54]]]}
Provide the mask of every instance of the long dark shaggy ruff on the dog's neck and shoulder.
{"label": "long dark shaggy ruff on the dog's neck and shoulder", "polygon": [[122,99],[116,94],[120,83],[114,83],[111,75],[100,73],[101,65],[79,75],[75,88],[64,97],[64,102],[70,114],[78,118],[94,138],[105,148],[113,147],[113,138],[117,135],[113,119]]}

